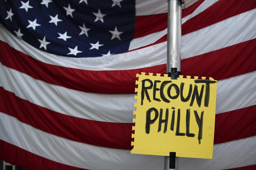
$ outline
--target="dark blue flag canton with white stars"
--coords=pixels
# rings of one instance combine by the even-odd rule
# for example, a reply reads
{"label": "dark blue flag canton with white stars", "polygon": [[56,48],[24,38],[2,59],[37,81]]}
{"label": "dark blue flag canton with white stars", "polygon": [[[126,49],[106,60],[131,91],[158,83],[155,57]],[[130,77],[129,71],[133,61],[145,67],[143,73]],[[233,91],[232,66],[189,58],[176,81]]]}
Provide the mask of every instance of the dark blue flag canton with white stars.
{"label": "dark blue flag canton with white stars", "polygon": [[135,1],[0,0],[0,23],[22,40],[49,53],[98,57],[129,49]]}

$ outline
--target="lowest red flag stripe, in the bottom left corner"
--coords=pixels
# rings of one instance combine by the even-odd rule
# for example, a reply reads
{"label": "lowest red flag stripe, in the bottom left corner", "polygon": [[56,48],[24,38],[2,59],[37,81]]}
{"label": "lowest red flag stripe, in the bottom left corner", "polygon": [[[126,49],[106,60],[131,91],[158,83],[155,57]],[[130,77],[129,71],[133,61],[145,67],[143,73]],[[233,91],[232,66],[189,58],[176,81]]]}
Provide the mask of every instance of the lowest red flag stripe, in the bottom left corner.
{"label": "lowest red flag stripe, in the bottom left corner", "polygon": [[[82,170],[82,168],[73,167],[70,165],[65,165],[58,163],[42,156],[33,154],[26,151],[20,147],[12,145],[0,139],[0,159],[8,162],[12,165],[16,165],[27,170]],[[20,155],[17,159],[17,155]]]}

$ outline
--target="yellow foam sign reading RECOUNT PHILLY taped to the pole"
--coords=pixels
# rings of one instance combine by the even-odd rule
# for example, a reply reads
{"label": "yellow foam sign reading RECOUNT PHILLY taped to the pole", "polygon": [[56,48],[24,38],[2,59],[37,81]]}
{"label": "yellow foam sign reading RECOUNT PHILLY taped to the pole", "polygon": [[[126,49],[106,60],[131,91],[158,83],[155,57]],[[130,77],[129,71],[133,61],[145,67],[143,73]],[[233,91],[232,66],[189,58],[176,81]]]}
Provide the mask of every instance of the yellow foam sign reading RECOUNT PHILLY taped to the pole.
{"label": "yellow foam sign reading RECOUNT PHILLY taped to the pole", "polygon": [[137,74],[132,154],[213,156],[217,81]]}

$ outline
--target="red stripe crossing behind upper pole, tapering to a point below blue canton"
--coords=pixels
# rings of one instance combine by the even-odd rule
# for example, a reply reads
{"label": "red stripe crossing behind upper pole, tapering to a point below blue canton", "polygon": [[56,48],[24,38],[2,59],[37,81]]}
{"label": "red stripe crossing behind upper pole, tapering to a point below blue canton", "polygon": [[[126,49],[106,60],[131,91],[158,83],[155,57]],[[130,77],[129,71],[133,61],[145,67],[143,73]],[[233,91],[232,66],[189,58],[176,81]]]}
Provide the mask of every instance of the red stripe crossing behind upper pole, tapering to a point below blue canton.
{"label": "red stripe crossing behind upper pole, tapering to a point below blue canton", "polygon": [[[225,0],[220,0],[214,3],[212,6],[210,6],[206,10],[204,10],[203,12],[201,12],[200,14],[194,16],[193,18],[183,23],[181,28],[181,34],[185,35],[187,33],[197,31],[199,29],[205,28],[209,25],[215,24],[217,22],[220,22],[232,16],[252,10],[254,8],[256,8],[255,1],[230,0],[227,2]],[[149,25],[145,25],[145,27],[149,27]],[[130,51],[142,49],[142,48],[159,44],[165,41],[167,41],[167,34],[161,37],[159,40],[155,41],[154,43],[151,43],[149,45],[145,45]]]}

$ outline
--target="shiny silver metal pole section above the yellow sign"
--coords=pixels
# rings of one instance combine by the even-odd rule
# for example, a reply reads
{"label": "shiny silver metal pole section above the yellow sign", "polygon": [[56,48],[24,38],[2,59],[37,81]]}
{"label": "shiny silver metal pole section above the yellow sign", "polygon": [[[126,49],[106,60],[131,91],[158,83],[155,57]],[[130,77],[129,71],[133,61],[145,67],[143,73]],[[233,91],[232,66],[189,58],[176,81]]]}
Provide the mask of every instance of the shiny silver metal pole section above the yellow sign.
{"label": "shiny silver metal pole section above the yellow sign", "polygon": [[[181,71],[181,0],[168,1],[167,73]],[[177,70],[176,70],[177,69]]]}

